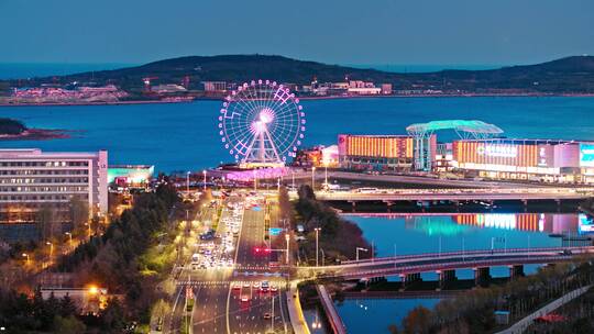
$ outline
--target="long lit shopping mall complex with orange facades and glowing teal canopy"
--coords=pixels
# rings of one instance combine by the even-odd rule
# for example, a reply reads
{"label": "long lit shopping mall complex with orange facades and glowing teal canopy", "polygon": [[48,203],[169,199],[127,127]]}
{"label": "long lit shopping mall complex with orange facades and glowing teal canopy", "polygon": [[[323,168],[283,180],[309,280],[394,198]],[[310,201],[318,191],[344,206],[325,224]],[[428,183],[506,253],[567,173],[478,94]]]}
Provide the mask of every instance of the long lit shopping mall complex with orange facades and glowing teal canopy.
{"label": "long lit shopping mall complex with orange facades and glowing teal canopy", "polygon": [[[437,142],[435,131],[459,138]],[[503,131],[481,121],[413,124],[408,135],[338,136],[339,164],[354,170],[455,174],[464,177],[594,183],[594,142],[498,138]]]}

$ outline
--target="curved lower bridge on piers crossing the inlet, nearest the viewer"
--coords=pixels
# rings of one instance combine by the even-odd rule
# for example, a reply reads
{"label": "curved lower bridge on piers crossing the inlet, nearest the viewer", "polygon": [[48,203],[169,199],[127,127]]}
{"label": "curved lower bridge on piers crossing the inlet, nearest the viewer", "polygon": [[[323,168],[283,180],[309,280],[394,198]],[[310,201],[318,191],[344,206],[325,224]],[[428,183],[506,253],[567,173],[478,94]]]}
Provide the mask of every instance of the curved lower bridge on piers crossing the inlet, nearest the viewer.
{"label": "curved lower bridge on piers crossing the inlet, nearest the viewer", "polygon": [[480,282],[491,267],[509,267],[510,277],[522,275],[524,265],[570,261],[573,256],[594,253],[594,246],[483,249],[429,253],[343,261],[341,265],[300,267],[298,274],[327,279],[371,279],[400,276],[403,282],[420,280],[420,272],[437,272],[440,282],[455,278],[457,269],[473,269]]}

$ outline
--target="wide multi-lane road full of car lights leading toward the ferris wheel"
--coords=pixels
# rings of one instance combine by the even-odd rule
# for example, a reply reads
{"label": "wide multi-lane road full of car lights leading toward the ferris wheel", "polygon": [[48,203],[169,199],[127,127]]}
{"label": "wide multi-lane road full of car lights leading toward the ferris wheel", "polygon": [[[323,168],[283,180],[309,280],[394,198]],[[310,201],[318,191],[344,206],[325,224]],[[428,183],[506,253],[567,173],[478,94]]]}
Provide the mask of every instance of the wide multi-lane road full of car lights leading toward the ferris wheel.
{"label": "wide multi-lane road full of car lights leading toward the ferris wheel", "polygon": [[[241,209],[231,209],[233,205]],[[270,245],[265,240],[265,220],[268,216],[272,226],[277,224],[275,205],[266,204],[262,196],[231,196],[222,202],[222,208],[216,234],[223,237],[213,241],[215,249],[219,249],[213,254],[229,254],[233,265],[193,268],[191,255],[188,255],[178,277],[176,293],[180,294],[180,301],[174,311],[180,325],[170,333],[184,332],[186,287],[190,287],[195,296],[195,305],[187,319],[189,333],[255,334],[271,333],[272,329],[274,333],[293,333],[284,298],[285,269],[270,268],[272,252],[266,250]],[[240,220],[241,223],[237,237],[233,237],[233,250],[226,253],[221,250],[224,248],[221,240],[228,231],[232,233],[231,225],[224,223],[227,220]],[[261,291],[262,281],[268,281],[275,291]]]}

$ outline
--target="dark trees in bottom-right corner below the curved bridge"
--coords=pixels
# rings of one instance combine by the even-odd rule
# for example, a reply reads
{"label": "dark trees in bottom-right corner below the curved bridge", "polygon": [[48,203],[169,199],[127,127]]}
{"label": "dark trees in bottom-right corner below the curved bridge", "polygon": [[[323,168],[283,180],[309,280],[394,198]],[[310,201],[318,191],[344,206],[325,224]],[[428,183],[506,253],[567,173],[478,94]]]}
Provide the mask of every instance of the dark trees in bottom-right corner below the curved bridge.
{"label": "dark trees in bottom-right corner below the curved bridge", "polygon": [[[537,274],[503,286],[481,288],[440,301],[432,310],[418,307],[403,320],[405,333],[488,333],[496,329],[494,311],[510,312],[517,321],[540,305],[594,281],[594,266],[579,264],[548,266]],[[398,332],[395,325],[393,333]]]}

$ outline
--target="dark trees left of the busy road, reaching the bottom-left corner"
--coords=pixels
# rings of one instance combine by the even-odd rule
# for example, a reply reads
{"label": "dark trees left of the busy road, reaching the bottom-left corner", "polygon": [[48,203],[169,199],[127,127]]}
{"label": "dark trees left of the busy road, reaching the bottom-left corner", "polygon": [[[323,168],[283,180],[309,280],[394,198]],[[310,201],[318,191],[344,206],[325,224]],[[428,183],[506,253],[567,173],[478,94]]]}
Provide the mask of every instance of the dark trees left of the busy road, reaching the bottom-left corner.
{"label": "dark trees left of the busy road, reaching the bottom-left corner", "polygon": [[163,238],[169,212],[178,201],[177,191],[166,182],[154,192],[136,196],[133,208],[114,220],[103,235],[80,244],[53,269],[73,272],[76,286],[106,287],[122,296],[123,303],[112,299],[99,315],[79,315],[73,308],[66,312],[56,307],[70,304],[68,301],[43,301],[38,294],[29,298],[8,287],[0,290],[0,324],[11,333],[121,333],[133,322],[148,323],[151,307],[164,292],[156,288],[158,277],[141,270],[142,257]]}

